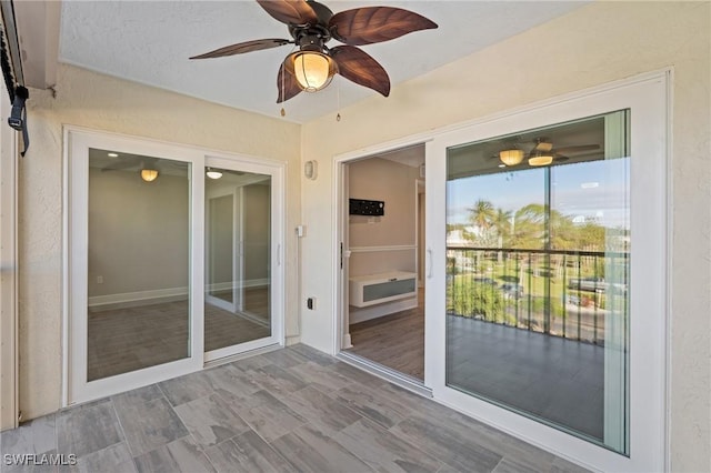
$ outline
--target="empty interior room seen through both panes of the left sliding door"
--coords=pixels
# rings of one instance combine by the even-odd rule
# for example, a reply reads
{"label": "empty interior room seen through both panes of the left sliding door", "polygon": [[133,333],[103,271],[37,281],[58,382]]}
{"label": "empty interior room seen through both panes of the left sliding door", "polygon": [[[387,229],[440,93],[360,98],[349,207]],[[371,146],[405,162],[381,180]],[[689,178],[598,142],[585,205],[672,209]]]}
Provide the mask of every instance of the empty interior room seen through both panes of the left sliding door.
{"label": "empty interior room seen through both panes of the left sliding door", "polygon": [[[88,380],[189,355],[189,164],[89,153]],[[271,334],[269,177],[206,168],[204,350]]]}

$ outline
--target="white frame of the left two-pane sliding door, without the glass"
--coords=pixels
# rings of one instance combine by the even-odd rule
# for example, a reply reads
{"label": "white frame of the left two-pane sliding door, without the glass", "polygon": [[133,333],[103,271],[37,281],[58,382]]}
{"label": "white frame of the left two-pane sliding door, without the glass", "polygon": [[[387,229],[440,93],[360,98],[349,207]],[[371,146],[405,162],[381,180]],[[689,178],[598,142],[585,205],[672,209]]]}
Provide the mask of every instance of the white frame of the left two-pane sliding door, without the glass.
{"label": "white frame of the left two-pane sliding door, without the glass", "polygon": [[[207,362],[273,344],[284,345],[283,241],[286,163],[242,154],[127,137],[81,127],[64,127],[63,150],[63,360],[62,406],[82,403],[127,390],[202,370]],[[191,164],[189,218],[189,355],[173,362],[87,381],[88,363],[88,184],[89,149],[114,149],[126,153],[182,161]],[[206,162],[227,169],[272,177],[272,336],[204,353],[204,172]]]}

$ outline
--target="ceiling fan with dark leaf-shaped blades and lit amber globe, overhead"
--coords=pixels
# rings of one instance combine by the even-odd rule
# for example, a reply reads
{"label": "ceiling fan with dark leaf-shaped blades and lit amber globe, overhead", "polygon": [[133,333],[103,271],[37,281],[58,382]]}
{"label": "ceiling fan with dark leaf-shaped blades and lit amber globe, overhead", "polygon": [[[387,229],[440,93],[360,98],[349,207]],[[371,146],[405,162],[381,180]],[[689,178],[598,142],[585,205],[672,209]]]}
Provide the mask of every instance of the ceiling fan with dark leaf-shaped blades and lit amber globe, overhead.
{"label": "ceiling fan with dark leaf-shaped blades and lit amber globe, overhead", "polygon": [[[357,46],[372,44],[403,34],[437,28],[433,21],[409,10],[391,7],[363,7],[333,13],[312,0],[257,0],[276,20],[286,23],[291,40],[270,38],[227,46],[190,59],[221,58],[262,49],[296,44],[277,76],[277,103],[302,90],[316,92],[339,73],[357,84],[384,97],[390,94],[390,78],[372,57]],[[336,39],[343,46],[326,46]]]}

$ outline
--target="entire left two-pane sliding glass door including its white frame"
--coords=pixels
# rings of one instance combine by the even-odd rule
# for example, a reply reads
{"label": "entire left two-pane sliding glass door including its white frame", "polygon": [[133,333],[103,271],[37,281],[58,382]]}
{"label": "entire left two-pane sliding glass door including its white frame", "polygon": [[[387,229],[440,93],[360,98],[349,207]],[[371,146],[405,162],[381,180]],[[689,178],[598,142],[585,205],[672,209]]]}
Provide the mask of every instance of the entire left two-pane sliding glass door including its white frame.
{"label": "entire left two-pane sliding glass door including its white frame", "polygon": [[66,404],[283,344],[283,163],[66,140]]}

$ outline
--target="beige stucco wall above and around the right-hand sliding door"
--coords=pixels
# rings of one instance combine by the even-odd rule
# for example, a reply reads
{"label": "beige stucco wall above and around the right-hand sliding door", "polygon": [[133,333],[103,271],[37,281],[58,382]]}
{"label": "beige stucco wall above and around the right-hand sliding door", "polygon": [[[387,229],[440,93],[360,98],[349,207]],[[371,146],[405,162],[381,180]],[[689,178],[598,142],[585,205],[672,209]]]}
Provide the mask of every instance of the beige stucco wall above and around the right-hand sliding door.
{"label": "beige stucco wall above and around the right-hand sliding door", "polygon": [[[449,38],[455,38],[450,32]],[[302,341],[333,346],[334,155],[672,67],[670,437],[674,471],[711,471],[711,3],[594,2],[303,127]]]}

